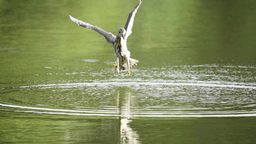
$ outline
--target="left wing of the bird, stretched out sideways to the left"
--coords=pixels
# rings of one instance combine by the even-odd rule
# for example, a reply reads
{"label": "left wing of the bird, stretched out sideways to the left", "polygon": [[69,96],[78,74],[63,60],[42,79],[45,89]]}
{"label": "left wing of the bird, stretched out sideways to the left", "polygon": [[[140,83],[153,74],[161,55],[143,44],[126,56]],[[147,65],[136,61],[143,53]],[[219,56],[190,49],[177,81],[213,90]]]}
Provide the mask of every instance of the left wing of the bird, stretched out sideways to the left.
{"label": "left wing of the bird, stretched out sideways to the left", "polygon": [[112,43],[112,44],[115,43],[116,36],[114,36],[112,33],[109,33],[107,31],[101,29],[101,27],[93,26],[89,23],[83,22],[82,20],[76,19],[72,16],[69,16],[69,18],[81,27],[86,27],[86,28],[90,28],[90,29],[97,31],[99,34],[103,35],[106,38],[108,43]]}

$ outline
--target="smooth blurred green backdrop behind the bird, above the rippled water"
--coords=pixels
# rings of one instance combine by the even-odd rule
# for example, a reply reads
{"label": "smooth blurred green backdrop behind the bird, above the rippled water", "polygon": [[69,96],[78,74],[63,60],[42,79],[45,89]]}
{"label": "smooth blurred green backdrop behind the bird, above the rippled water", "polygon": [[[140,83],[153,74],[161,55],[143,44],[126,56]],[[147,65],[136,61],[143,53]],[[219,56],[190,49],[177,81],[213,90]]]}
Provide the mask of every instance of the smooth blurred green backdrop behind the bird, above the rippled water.
{"label": "smooth blurred green backdrop behind the bird, above the rippled water", "polygon": [[[112,45],[98,33],[78,27],[68,15],[116,35],[136,2],[0,0],[0,86],[26,83],[26,77],[37,80],[34,74],[52,72],[45,67],[54,72],[109,68],[103,62],[114,61]],[[139,60],[138,68],[178,62],[255,65],[255,3],[145,0],[128,39],[131,57]]]}

